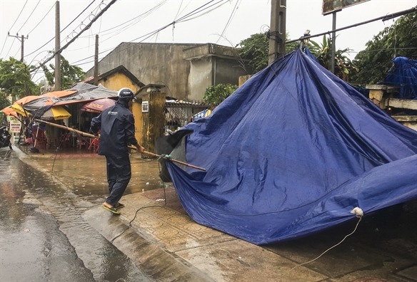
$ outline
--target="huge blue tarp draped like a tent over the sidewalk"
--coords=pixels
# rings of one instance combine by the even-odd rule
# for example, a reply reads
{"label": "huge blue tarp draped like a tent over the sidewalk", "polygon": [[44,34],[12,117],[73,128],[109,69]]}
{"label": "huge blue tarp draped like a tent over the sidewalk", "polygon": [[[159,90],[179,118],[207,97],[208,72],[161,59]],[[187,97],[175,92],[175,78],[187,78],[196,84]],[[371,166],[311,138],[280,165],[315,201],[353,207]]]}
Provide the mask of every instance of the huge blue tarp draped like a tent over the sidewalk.
{"label": "huge blue tarp draped like a tent over the sidewalk", "polygon": [[300,50],[191,122],[186,161],[167,162],[199,224],[268,244],[417,198],[417,132]]}

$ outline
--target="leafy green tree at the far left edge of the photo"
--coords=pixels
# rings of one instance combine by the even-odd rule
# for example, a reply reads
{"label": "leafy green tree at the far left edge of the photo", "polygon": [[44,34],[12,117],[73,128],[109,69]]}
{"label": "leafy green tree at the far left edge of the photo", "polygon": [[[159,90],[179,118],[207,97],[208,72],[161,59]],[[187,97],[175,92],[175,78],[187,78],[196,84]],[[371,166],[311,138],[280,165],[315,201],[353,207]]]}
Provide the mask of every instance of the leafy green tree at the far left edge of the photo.
{"label": "leafy green tree at the far left edge of the photo", "polygon": [[29,95],[39,95],[38,86],[31,80],[31,66],[10,57],[9,60],[0,58],[0,88],[13,100]]}

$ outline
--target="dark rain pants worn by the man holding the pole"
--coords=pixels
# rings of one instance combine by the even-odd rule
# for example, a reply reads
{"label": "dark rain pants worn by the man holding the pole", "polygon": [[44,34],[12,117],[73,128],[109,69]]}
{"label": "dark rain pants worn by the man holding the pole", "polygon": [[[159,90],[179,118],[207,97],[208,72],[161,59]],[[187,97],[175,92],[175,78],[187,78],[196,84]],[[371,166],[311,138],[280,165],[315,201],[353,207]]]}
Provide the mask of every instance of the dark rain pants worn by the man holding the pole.
{"label": "dark rain pants worn by the man holding the pole", "polygon": [[109,182],[110,196],[106,203],[116,205],[126,190],[131,179],[131,164],[129,157],[109,157],[107,161],[107,182]]}

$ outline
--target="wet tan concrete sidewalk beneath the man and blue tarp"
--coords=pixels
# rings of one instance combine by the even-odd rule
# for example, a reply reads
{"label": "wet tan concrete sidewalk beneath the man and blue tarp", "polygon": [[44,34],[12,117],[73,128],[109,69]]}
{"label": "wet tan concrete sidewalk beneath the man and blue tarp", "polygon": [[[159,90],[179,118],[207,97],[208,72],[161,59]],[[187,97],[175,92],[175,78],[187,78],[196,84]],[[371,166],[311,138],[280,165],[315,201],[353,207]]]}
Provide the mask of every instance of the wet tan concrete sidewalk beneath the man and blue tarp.
{"label": "wet tan concrete sidewalk beneath the man and blue tarp", "polygon": [[[53,160],[54,151],[31,154],[26,150],[26,155],[26,162]],[[76,178],[90,179],[86,189],[95,191],[94,185],[106,184],[105,160],[86,155],[60,153],[59,158],[89,157],[88,162],[77,162]],[[131,194],[121,199],[126,205],[121,216],[96,204],[83,217],[155,281],[417,281],[416,223],[409,222],[416,219],[413,211],[414,217],[398,219],[395,229],[378,223],[378,232],[371,216],[364,216],[355,234],[306,263],[338,244],[357,221],[302,239],[256,246],[196,224],[182,208],[174,187],[159,186],[156,161],[131,155],[131,164],[133,177],[127,190]],[[67,187],[79,186],[71,171],[59,169],[56,179]]]}

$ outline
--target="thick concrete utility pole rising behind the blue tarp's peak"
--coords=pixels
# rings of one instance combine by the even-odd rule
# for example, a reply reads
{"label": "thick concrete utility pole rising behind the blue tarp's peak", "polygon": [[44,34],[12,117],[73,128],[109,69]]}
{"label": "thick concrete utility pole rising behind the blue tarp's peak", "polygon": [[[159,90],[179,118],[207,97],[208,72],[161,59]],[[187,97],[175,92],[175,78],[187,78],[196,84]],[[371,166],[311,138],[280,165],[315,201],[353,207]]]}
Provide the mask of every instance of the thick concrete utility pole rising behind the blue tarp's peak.
{"label": "thick concrete utility pole rising behind the blue tarp's peak", "polygon": [[271,1],[271,28],[269,30],[268,63],[285,54],[286,0]]}

